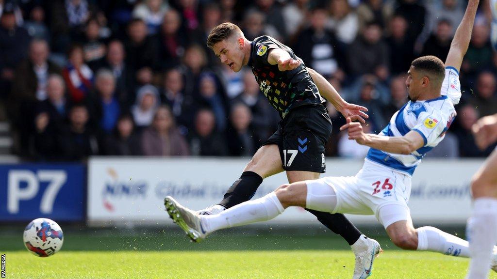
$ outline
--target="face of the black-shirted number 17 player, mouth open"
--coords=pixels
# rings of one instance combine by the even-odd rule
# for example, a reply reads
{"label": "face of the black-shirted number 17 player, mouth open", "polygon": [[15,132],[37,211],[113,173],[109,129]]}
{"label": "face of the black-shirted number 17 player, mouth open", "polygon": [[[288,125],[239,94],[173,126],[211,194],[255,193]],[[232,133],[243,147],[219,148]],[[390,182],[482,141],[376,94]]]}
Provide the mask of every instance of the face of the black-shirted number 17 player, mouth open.
{"label": "face of the black-shirted number 17 player, mouth open", "polygon": [[243,67],[245,53],[243,52],[244,42],[236,37],[231,37],[216,43],[212,50],[214,54],[226,64],[231,70],[238,72]]}

